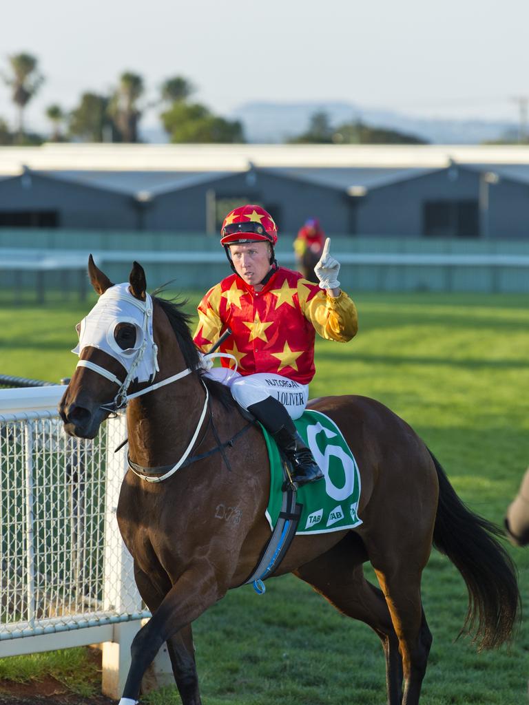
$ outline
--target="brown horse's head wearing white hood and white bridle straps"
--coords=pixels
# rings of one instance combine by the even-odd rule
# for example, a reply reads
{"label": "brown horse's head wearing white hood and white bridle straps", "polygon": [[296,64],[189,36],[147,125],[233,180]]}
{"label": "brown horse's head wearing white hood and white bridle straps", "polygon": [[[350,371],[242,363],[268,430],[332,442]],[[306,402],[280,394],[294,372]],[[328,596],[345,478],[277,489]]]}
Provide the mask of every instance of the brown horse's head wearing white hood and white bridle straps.
{"label": "brown horse's head wearing white hood and white bridle straps", "polygon": [[[147,293],[145,271],[138,262],[122,284],[112,283],[92,255],[88,273],[99,300],[77,326],[79,343],[72,352],[79,355],[79,362],[59,413],[68,434],[93,439],[104,419],[126,406],[129,387],[141,390],[152,385],[162,364],[159,346],[168,347],[163,341],[173,331],[163,312],[154,317],[157,300]],[[182,355],[171,355],[171,362],[166,356],[165,367],[178,361],[184,366]]]}

